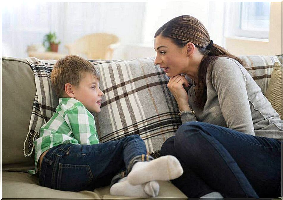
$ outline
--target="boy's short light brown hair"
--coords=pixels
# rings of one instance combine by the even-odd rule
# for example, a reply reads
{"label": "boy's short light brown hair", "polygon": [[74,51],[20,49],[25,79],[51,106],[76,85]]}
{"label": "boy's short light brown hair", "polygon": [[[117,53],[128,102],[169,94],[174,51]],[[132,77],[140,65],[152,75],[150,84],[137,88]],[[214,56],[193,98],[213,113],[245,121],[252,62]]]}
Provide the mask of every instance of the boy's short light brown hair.
{"label": "boy's short light brown hair", "polygon": [[88,73],[100,80],[99,71],[91,62],[79,56],[67,55],[55,63],[51,72],[51,85],[60,98],[65,92],[66,83],[79,87],[81,80]]}

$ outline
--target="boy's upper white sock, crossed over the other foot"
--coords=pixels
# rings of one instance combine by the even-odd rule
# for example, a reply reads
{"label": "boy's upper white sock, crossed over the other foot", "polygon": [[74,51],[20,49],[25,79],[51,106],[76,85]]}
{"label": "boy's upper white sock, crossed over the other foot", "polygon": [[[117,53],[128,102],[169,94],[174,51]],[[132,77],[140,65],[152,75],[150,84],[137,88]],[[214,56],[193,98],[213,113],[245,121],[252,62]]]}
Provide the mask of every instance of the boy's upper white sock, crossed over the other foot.
{"label": "boy's upper white sock, crossed over the other foot", "polygon": [[150,181],[168,181],[183,174],[179,160],[171,155],[161,156],[149,162],[137,162],[128,174],[132,185],[140,185]]}

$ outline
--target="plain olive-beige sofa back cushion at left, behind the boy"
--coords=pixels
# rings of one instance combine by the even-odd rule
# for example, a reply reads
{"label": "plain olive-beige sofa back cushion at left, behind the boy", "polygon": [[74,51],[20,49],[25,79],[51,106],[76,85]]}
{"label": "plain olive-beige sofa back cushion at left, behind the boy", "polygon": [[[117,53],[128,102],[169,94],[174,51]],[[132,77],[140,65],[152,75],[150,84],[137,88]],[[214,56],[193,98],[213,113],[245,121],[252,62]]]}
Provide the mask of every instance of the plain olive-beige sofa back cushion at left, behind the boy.
{"label": "plain olive-beige sofa back cushion at left, behind the boy", "polygon": [[26,171],[34,158],[24,157],[24,140],[35,99],[35,81],[25,59],[2,57],[2,170]]}

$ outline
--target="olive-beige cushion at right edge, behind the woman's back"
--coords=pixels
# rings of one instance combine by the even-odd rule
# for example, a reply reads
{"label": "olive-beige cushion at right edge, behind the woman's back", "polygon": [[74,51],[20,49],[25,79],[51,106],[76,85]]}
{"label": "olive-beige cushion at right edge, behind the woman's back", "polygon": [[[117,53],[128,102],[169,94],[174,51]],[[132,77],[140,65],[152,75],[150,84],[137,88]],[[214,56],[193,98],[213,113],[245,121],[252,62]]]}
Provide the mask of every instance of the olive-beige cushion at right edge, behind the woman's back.
{"label": "olive-beige cushion at right edge, behind the woman's back", "polygon": [[283,119],[283,105],[282,105],[282,64],[275,62],[271,79],[268,84],[268,88],[265,92],[265,96],[271,103],[272,107],[280,115],[280,119]]}

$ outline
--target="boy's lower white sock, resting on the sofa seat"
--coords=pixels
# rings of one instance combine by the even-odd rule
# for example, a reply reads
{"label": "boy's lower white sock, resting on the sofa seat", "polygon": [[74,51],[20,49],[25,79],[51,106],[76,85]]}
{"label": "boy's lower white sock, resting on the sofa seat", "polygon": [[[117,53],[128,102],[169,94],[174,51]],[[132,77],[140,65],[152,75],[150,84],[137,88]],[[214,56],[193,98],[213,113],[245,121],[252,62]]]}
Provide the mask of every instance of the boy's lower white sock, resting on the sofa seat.
{"label": "boy's lower white sock, resting on the sofa seat", "polygon": [[156,197],[158,193],[158,182],[151,181],[141,185],[131,185],[127,181],[127,177],[120,179],[110,187],[110,194],[113,196]]}

